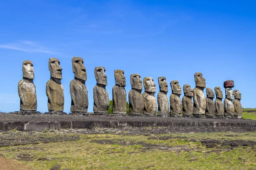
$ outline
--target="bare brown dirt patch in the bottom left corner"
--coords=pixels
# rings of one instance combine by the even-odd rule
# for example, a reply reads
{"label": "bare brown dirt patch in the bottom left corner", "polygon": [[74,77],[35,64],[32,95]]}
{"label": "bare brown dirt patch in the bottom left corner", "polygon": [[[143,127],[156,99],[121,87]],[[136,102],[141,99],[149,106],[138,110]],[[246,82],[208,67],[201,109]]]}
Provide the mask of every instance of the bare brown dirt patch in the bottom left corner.
{"label": "bare brown dirt patch in the bottom left corner", "polygon": [[30,167],[26,167],[16,161],[6,159],[0,156],[0,169],[1,170],[32,170]]}

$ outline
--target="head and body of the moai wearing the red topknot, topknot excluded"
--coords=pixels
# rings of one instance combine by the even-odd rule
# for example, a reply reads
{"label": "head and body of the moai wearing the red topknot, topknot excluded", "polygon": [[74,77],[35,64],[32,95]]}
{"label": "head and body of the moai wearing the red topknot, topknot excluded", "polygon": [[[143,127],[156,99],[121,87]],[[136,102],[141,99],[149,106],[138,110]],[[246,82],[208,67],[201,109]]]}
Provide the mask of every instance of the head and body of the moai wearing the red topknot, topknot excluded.
{"label": "head and body of the moai wearing the red topknot, topknot excluded", "polygon": [[234,94],[231,88],[226,88],[226,98],[224,99],[224,116],[236,116],[233,104]]}

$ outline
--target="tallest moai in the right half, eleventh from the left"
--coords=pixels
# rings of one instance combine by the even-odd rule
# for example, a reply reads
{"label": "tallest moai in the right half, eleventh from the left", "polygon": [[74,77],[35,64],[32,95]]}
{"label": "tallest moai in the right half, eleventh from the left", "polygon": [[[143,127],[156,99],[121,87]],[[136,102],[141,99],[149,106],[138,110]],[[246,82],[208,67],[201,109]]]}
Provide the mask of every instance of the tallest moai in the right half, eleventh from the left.
{"label": "tallest moai in the right half, eleventh from the left", "polygon": [[204,96],[205,79],[201,73],[195,73],[195,88],[193,89],[194,109],[193,115],[201,117],[205,115],[206,99]]}

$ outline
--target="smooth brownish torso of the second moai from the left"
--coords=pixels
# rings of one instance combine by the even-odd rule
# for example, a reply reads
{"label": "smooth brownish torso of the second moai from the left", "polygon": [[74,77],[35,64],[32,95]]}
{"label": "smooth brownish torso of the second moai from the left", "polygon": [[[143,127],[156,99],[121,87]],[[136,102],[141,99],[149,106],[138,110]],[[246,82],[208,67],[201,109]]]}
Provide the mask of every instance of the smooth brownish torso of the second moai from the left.
{"label": "smooth brownish torso of the second moai from the left", "polygon": [[49,79],[46,83],[46,93],[48,97],[49,111],[63,111],[64,109],[64,92],[62,84]]}

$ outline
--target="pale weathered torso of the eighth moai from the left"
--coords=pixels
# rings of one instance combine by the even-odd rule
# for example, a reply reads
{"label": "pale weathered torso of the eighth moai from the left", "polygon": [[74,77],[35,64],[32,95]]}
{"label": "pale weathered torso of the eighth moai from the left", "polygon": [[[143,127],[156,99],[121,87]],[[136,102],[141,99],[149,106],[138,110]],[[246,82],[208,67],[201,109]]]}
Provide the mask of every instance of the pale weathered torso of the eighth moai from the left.
{"label": "pale weathered torso of the eighth moai from the left", "polygon": [[158,115],[169,115],[169,100],[164,92],[159,92],[157,94],[157,103],[158,103]]}

